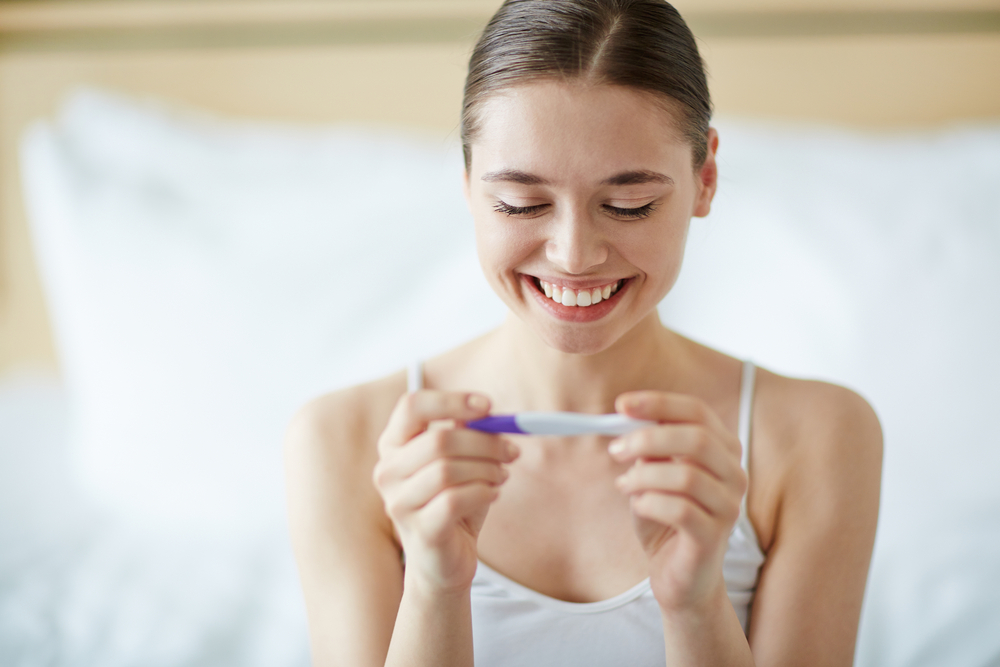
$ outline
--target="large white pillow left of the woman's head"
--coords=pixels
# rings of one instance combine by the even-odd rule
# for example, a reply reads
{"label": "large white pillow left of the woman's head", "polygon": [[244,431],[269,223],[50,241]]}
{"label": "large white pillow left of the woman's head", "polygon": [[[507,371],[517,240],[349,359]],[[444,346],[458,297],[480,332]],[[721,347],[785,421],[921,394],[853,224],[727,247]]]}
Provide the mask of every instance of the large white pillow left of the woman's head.
{"label": "large white pillow left of the woman's head", "polygon": [[451,145],[82,91],[23,164],[77,475],[139,522],[273,522],[296,407],[503,316]]}

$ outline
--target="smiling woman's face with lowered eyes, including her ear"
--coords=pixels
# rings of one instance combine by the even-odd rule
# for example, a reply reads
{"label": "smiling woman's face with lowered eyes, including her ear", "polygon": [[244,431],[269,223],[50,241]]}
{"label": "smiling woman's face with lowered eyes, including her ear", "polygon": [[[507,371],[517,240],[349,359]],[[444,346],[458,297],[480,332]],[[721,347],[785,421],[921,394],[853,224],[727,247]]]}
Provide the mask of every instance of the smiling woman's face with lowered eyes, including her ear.
{"label": "smiling woman's face with lowered eyes, including her ear", "polygon": [[692,215],[715,193],[667,105],[612,85],[545,81],[480,109],[466,175],[479,260],[550,346],[607,349],[677,279]]}

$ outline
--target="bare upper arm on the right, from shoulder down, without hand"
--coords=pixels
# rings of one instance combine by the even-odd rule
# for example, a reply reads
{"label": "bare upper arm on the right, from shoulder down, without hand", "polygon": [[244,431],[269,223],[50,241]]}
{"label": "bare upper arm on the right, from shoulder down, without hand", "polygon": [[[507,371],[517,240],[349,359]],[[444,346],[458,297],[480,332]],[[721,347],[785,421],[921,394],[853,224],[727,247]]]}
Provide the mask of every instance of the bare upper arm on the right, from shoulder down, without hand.
{"label": "bare upper arm on the right, from shoulder down, without hand", "polygon": [[782,417],[758,435],[786,465],[750,645],[758,665],[849,667],[878,520],[882,430],[853,392],[771,380],[757,412]]}

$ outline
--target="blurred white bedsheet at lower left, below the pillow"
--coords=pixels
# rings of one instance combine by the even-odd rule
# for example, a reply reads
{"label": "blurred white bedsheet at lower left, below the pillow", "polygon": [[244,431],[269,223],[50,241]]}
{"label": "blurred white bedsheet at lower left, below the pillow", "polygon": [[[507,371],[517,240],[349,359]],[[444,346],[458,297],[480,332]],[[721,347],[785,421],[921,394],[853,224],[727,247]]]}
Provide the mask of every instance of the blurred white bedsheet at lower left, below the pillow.
{"label": "blurred white bedsheet at lower left, below the pillow", "polygon": [[0,665],[308,665],[283,530],[143,531],[74,488],[65,391],[0,381]]}

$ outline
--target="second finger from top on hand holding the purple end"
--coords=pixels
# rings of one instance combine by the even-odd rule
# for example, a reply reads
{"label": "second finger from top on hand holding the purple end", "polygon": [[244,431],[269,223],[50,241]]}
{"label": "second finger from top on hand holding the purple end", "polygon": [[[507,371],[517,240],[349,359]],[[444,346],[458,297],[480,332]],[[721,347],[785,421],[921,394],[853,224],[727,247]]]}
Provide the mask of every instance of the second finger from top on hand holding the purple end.
{"label": "second finger from top on hand holding the purple end", "polygon": [[391,462],[386,461],[385,473],[396,479],[414,474],[436,459],[485,460],[510,463],[520,454],[520,449],[509,440],[497,435],[469,429],[442,429],[427,431],[413,438],[400,448]]}

